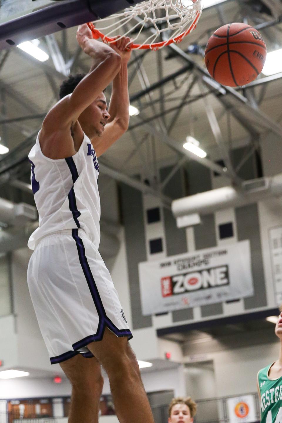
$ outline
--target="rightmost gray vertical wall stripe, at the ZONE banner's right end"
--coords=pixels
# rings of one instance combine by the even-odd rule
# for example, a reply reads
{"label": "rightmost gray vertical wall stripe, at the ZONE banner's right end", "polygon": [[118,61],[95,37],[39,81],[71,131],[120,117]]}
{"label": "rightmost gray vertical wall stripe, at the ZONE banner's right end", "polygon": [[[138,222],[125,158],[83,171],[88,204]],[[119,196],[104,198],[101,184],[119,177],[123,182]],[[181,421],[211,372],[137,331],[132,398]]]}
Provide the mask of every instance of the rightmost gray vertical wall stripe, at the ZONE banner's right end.
{"label": "rightmost gray vertical wall stripe, at the ZONE banner's right end", "polygon": [[238,241],[250,240],[252,275],[255,295],[245,298],[245,309],[263,307],[267,305],[266,285],[263,272],[263,257],[260,241],[260,223],[257,203],[235,209]]}

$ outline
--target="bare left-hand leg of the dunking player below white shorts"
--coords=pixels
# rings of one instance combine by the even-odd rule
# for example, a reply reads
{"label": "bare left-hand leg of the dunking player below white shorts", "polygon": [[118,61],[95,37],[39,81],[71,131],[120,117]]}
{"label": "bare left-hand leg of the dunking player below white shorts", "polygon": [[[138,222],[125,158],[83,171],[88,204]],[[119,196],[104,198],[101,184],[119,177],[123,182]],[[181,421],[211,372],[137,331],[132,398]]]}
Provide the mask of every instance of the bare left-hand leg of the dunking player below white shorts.
{"label": "bare left-hand leg of the dunking player below white shorts", "polygon": [[98,423],[99,401],[103,389],[101,365],[80,354],[60,363],[72,385],[68,423]]}

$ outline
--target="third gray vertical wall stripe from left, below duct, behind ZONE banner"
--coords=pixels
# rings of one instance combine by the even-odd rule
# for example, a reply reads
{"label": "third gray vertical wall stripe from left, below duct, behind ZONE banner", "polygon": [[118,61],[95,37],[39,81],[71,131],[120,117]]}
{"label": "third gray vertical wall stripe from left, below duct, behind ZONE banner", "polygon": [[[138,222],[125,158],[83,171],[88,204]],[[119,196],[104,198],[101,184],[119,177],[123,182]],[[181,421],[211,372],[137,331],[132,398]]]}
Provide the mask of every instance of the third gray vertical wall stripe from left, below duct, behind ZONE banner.
{"label": "third gray vertical wall stripe from left, below duct, behind ZONE banner", "polygon": [[[194,226],[195,248],[203,250],[204,248],[216,247],[216,229],[214,214],[201,216],[202,223]],[[216,316],[223,313],[221,302],[201,307],[202,317]]]}

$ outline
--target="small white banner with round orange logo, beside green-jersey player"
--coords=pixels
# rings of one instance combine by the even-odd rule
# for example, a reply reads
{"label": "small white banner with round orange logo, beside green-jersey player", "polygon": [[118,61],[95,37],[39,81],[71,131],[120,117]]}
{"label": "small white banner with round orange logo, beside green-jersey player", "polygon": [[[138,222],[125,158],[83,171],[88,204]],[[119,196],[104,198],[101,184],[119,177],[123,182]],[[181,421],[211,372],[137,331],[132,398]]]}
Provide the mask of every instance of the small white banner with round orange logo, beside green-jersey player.
{"label": "small white banner with round orange logo, beside green-jersey player", "polygon": [[252,423],[257,421],[253,395],[227,399],[229,423]]}

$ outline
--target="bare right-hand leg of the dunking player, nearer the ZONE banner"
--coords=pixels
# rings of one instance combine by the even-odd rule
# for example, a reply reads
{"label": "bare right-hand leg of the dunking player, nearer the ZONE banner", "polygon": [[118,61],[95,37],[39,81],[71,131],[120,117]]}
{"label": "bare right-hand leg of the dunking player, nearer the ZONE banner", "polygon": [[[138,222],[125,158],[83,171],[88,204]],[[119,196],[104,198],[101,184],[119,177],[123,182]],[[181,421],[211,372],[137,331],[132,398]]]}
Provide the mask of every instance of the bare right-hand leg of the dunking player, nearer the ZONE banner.
{"label": "bare right-hand leg of the dunking player, nearer the ZONE banner", "polygon": [[139,365],[128,339],[118,338],[106,328],[102,341],[90,343],[88,349],[109,376],[119,422],[153,423]]}

